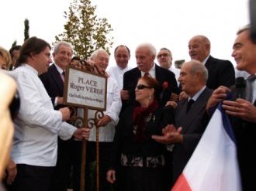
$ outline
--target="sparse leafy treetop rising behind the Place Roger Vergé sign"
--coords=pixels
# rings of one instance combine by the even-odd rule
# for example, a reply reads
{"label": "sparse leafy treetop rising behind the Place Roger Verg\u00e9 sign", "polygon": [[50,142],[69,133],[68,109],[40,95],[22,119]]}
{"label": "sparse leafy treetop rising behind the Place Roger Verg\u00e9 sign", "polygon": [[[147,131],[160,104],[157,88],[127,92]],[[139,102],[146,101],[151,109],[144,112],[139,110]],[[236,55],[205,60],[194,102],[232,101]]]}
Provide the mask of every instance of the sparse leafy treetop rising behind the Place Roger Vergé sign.
{"label": "sparse leafy treetop rising behind the Place Roger Verg\u00e9 sign", "polygon": [[95,15],[96,6],[90,0],[73,0],[64,12],[67,23],[64,32],[55,36],[56,42],[67,41],[74,46],[74,54],[88,59],[95,49],[103,48],[109,53],[112,47],[111,25],[107,19],[98,19]]}

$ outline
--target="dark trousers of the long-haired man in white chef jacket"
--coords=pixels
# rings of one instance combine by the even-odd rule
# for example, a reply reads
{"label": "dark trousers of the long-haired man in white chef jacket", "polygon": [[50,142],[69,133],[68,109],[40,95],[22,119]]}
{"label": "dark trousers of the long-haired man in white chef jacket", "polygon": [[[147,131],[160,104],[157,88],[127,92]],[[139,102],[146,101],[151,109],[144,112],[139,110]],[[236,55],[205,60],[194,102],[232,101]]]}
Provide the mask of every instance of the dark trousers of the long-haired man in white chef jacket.
{"label": "dark trousers of the long-haired man in white chef jacket", "polygon": [[17,164],[17,176],[7,190],[48,191],[54,167]]}

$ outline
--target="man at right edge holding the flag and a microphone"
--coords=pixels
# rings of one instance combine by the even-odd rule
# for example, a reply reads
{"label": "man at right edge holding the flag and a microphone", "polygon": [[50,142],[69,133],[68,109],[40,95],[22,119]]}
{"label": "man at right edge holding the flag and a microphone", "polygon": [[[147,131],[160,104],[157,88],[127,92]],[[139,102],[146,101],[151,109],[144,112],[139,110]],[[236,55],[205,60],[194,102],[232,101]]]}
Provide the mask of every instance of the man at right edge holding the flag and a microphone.
{"label": "man at right edge holding the flag and a microphone", "polygon": [[251,39],[250,29],[250,26],[245,26],[237,32],[232,53],[237,69],[251,74],[247,79],[245,99],[223,101],[230,88],[221,86],[213,91],[206,107],[210,111],[223,101],[223,109],[230,116],[237,139],[237,159],[243,190],[254,190],[256,187],[254,176],[251,176],[256,171],[256,43]]}

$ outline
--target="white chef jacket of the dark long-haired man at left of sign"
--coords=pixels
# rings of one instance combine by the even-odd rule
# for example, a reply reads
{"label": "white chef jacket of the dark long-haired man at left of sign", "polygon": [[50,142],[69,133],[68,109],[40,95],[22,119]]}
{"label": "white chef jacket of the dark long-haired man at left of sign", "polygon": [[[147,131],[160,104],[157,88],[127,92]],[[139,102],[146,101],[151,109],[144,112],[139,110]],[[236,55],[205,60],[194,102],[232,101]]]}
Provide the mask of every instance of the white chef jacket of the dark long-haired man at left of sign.
{"label": "white chef jacket of the dark long-haired man at left of sign", "polygon": [[71,138],[76,128],[62,121],[55,111],[37,71],[24,64],[10,72],[16,79],[20,97],[15,122],[12,159],[17,164],[54,166],[57,161],[57,136]]}

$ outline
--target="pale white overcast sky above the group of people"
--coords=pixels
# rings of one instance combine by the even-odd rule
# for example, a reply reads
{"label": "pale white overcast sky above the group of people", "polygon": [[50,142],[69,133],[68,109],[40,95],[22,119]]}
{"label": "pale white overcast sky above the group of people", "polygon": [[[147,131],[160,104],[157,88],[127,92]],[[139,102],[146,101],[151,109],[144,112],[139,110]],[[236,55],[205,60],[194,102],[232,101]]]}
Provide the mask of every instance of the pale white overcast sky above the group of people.
{"label": "pale white overcast sky above the group of people", "polygon": [[[73,0],[9,0],[1,5],[0,46],[9,49],[14,40],[24,39],[24,20],[29,19],[29,36],[48,43],[64,32],[64,12]],[[113,52],[124,44],[130,48],[130,66],[136,67],[135,49],[152,43],[157,51],[171,49],[173,60],[190,60],[188,43],[195,35],[207,36],[213,57],[230,60],[236,32],[249,23],[248,0],[91,0],[95,14],[108,19],[113,31]],[[234,63],[235,66],[235,63]]]}

